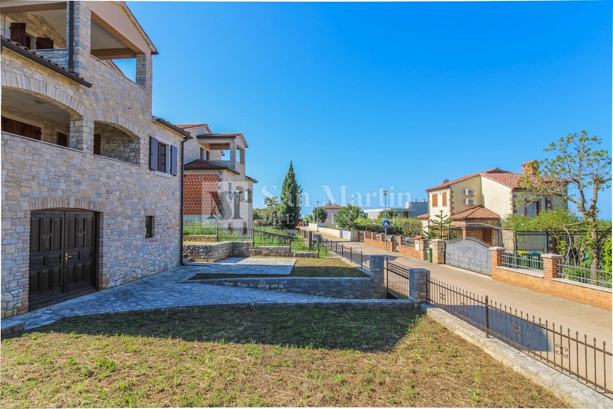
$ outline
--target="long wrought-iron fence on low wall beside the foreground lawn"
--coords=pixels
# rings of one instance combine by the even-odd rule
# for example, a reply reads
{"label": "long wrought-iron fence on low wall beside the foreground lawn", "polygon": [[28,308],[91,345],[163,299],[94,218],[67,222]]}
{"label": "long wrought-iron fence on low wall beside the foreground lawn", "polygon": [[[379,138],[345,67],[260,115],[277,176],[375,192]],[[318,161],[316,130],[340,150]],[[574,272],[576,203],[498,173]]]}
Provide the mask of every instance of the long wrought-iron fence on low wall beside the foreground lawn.
{"label": "long wrought-iron fence on low wall beside the foreground lawn", "polygon": [[604,341],[588,340],[587,335],[581,336],[578,331],[572,332],[521,310],[518,313],[517,309],[493,302],[487,296],[433,278],[428,280],[427,302],[484,331],[485,337],[498,338],[598,391],[613,392],[613,354]]}

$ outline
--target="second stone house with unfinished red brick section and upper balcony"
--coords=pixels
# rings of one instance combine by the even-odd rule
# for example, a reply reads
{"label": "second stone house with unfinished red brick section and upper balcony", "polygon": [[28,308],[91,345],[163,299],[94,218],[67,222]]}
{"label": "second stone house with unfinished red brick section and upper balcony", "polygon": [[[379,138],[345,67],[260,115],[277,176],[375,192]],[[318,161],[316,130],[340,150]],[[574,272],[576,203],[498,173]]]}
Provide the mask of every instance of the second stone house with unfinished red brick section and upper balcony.
{"label": "second stone house with unfinished red brick section and upper balcony", "polygon": [[177,124],[193,138],[183,156],[183,220],[253,229],[254,178],[246,171],[243,134],[214,134],[208,124]]}

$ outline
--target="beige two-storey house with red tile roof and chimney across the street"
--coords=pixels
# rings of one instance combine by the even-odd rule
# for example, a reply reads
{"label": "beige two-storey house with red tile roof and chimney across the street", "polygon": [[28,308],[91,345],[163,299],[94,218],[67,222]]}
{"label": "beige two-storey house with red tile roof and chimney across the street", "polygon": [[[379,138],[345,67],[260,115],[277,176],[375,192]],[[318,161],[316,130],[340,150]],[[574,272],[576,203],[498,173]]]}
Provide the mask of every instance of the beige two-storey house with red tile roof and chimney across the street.
{"label": "beige two-storey house with red tile roof and chimney across the street", "polygon": [[525,175],[533,174],[535,164],[535,161],[522,164],[523,173],[495,167],[428,188],[428,213],[418,218],[426,226],[428,220],[442,211],[462,231],[463,237],[492,243],[492,228],[488,225],[497,224],[505,216],[514,213],[535,216],[542,210],[566,205],[551,197],[518,204],[522,192],[518,182]]}

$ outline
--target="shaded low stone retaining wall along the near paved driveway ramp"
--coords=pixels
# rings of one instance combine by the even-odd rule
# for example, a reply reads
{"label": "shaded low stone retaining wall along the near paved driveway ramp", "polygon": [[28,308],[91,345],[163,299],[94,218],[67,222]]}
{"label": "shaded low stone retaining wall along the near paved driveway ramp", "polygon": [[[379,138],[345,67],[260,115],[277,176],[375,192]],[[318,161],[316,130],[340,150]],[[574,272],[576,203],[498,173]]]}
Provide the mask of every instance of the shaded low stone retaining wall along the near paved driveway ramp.
{"label": "shaded low stone retaining wall along the near paved driveway ramp", "polygon": [[343,299],[384,299],[386,288],[370,277],[265,277],[192,280],[202,284],[300,292]]}

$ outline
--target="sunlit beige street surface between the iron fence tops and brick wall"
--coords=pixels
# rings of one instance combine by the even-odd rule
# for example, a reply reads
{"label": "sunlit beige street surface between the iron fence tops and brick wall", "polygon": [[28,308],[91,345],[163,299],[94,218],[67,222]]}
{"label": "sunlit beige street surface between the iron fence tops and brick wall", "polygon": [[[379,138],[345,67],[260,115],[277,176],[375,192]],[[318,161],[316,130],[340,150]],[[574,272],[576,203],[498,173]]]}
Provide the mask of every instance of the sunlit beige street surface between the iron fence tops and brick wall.
{"label": "sunlit beige street surface between the iron fence tops and brick wall", "polygon": [[[327,236],[324,235],[324,237]],[[528,314],[530,318],[534,315],[537,321],[540,317],[543,322],[547,320],[549,324],[555,323],[558,328],[562,325],[564,331],[570,329],[573,335],[575,331],[578,331],[580,336],[586,334],[588,340],[595,337],[599,343],[605,341],[607,350],[611,350],[613,315],[611,311],[604,308],[592,307],[527,288],[493,281],[490,276],[457,267],[432,264],[392,251],[379,250],[362,242],[345,242],[343,240],[343,246],[346,249],[351,247],[353,251],[358,253],[362,251],[364,257],[367,254],[384,254],[389,261],[395,261],[411,268],[428,269],[431,277],[436,278],[436,280],[444,281],[449,285],[457,286],[480,296],[487,295],[490,300],[498,302],[498,304],[506,305],[513,310],[517,309],[517,313],[523,312],[524,315]]]}

